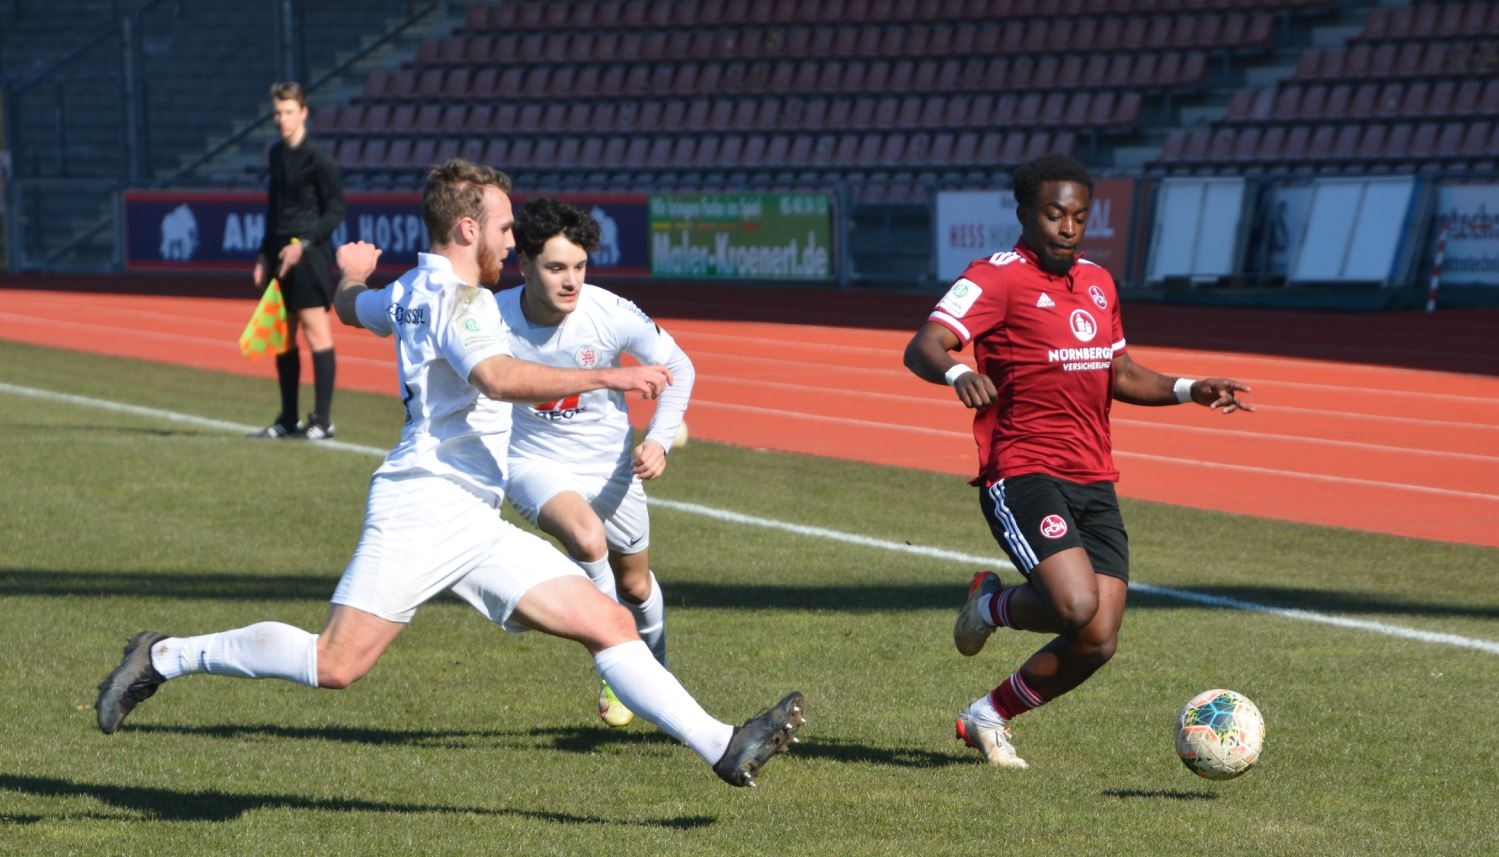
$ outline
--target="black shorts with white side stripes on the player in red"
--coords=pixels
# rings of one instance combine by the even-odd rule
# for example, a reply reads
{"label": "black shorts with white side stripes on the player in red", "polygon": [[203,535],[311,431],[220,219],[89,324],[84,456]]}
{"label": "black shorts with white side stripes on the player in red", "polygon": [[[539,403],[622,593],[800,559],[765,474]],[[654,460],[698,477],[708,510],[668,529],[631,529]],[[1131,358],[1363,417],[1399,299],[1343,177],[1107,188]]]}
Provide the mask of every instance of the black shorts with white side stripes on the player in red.
{"label": "black shorts with white side stripes on the player in red", "polygon": [[1013,476],[979,488],[979,508],[994,541],[1027,578],[1043,559],[1081,547],[1096,574],[1129,583],[1129,536],[1114,482]]}

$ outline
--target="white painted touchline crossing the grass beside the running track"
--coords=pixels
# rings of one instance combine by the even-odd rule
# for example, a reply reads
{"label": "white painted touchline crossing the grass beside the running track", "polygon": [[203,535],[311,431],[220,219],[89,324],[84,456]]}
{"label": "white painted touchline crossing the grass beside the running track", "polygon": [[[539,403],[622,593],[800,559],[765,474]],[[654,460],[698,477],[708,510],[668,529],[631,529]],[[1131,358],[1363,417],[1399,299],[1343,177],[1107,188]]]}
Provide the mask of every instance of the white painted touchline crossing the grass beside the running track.
{"label": "white painted touchline crossing the grass beside the running track", "polygon": [[[208,420],[204,417],[193,417],[190,414],[178,414],[175,411],[162,411],[157,408],[142,408],[139,405],[124,405],[120,402],[108,402],[103,399],[91,399],[87,396],[72,396],[67,393],[54,393],[49,390],[36,390],[31,387],[16,387],[10,384],[0,382],[0,394],[22,396],[28,399],[39,399],[43,402],[57,402],[64,405],[75,405],[79,408],[93,408],[97,411],[109,411],[115,414],[130,414],[133,417],[145,417],[153,420],[165,420],[168,423],[183,423],[187,426],[196,426],[201,428],[213,428],[219,431],[229,431],[235,434],[249,434],[255,431],[258,426],[244,426],[240,423],[226,423],[223,420]],[[319,449],[337,449],[342,452],[357,452],[361,455],[382,457],[385,449],[378,446],[366,446],[360,443],[345,443],[342,440],[321,440],[315,443]],[[796,524],[790,521],[778,521],[773,518],[761,518],[757,515],[747,515],[742,512],[733,512],[729,509],[718,509],[712,506],[702,506],[697,503],[684,503],[679,500],[666,500],[660,497],[651,497],[652,506],[660,506],[663,509],[672,509],[678,512],[700,515],[712,518],[717,521],[724,521],[738,526],[752,526],[761,529],[772,529],[779,532],[787,532],[805,538],[815,538],[824,541],[835,541],[841,544],[857,545],[872,550],[887,550],[893,553],[905,553],[913,556],[922,556],[926,559],[940,559],[949,562],[962,562],[982,566],[1000,566],[1013,571],[1013,565],[997,557],[997,556],[980,556],[961,553],[938,547],[913,545],[898,541],[878,539],[871,536],[862,536],[856,533],[845,533],[839,530],[812,527],[806,524]],[[1489,655],[1499,655],[1499,643],[1490,640],[1477,640],[1472,637],[1462,637],[1457,634],[1442,634],[1436,631],[1423,631],[1420,628],[1405,628],[1400,625],[1390,625],[1388,622],[1372,622],[1366,619],[1349,619],[1346,616],[1333,616],[1328,613],[1316,613],[1312,610],[1297,610],[1288,607],[1273,607],[1268,604],[1256,604],[1253,601],[1240,601],[1237,598],[1223,598],[1217,595],[1205,595],[1201,592],[1192,592],[1187,589],[1171,589],[1163,586],[1151,586],[1148,583],[1130,581],[1130,589],[1145,595],[1154,595],[1162,598],[1174,598],[1177,601],[1186,601],[1190,604],[1202,604],[1208,607],[1222,607],[1225,610],[1244,610],[1250,613],[1265,613],[1270,616],[1279,616],[1282,619],[1294,619],[1298,622],[1312,622],[1318,625],[1333,625],[1336,628],[1349,628],[1355,631],[1367,631],[1372,634],[1381,634],[1384,637],[1396,637],[1400,640],[1414,640],[1418,643],[1432,643],[1438,646],[1457,646],[1460,649],[1474,649],[1478,652],[1486,652]]]}

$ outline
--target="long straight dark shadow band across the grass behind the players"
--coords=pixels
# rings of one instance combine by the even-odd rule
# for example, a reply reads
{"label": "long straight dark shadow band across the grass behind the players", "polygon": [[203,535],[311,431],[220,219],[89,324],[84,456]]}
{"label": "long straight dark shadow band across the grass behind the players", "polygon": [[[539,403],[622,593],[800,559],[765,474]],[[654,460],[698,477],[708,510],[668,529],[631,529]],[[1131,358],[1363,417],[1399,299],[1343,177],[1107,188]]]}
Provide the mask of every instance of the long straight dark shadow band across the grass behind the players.
{"label": "long straight dark shadow band across the grass behind the players", "polygon": [[[327,601],[342,569],[327,574],[183,574],[150,571],[0,571],[0,596],[150,596],[156,599],[208,601]],[[1013,581],[1013,575],[1006,575]],[[669,607],[708,610],[814,610],[871,613],[881,610],[956,610],[962,605],[967,581],[941,583],[865,583],[839,586],[720,584],[666,581]],[[1313,610],[1342,614],[1385,614],[1456,619],[1499,619],[1499,605],[1423,604],[1367,592],[1324,592],[1283,586],[1207,586],[1195,595],[1229,598],[1250,604]],[[444,595],[442,598],[453,598]],[[456,599],[454,599],[456,602]],[[1157,592],[1130,592],[1130,607],[1225,610],[1181,601]]]}

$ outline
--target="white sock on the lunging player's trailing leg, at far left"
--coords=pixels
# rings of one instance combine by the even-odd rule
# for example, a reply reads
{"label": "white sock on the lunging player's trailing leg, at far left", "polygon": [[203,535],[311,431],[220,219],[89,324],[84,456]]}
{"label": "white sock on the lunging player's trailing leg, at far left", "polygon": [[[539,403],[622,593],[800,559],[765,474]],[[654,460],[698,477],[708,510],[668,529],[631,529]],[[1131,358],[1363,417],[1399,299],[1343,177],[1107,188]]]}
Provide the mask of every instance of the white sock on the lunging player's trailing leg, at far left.
{"label": "white sock on the lunging player's trailing leg, at far left", "polygon": [[280,622],[261,622],[202,637],[168,637],[151,646],[151,665],[168,679],[213,673],[316,688],[318,635]]}

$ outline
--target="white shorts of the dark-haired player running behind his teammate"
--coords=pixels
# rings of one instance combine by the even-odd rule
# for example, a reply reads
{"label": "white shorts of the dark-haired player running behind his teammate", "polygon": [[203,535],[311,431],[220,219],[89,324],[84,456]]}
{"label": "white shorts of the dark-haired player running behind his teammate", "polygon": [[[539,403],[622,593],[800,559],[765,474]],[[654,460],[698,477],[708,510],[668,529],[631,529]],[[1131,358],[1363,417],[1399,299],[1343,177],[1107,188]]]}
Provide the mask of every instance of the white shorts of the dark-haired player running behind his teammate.
{"label": "white shorts of the dark-haired player running behind his teammate", "polygon": [[505,496],[510,505],[532,524],[547,500],[573,491],[580,494],[604,521],[604,541],[615,553],[640,553],[651,547],[651,511],[640,479],[624,467],[609,473],[574,473],[556,461],[510,460]]}

